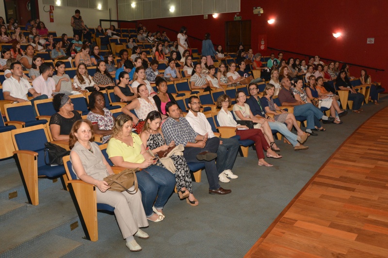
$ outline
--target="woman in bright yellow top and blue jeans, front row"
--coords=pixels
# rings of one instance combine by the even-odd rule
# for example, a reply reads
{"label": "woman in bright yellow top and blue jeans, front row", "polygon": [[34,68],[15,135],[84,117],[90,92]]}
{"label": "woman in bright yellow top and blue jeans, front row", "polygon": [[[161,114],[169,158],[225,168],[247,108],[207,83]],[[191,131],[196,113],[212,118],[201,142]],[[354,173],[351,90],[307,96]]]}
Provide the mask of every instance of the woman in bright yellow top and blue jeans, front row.
{"label": "woman in bright yellow top and blue jeans, front row", "polygon": [[162,210],[174,190],[175,176],[167,169],[155,165],[155,157],[146,151],[140,137],[132,133],[132,125],[129,115],[121,114],[117,117],[107,153],[115,166],[142,168],[136,172],[136,176],[143,207],[148,220],[159,222],[165,217]]}

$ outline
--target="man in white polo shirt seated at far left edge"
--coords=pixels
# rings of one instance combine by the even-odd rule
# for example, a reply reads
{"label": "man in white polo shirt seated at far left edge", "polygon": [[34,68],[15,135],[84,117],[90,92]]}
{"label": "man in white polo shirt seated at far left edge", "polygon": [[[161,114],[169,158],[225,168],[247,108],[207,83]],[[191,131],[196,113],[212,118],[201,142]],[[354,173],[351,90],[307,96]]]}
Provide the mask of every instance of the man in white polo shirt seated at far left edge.
{"label": "man in white polo shirt seated at far left edge", "polygon": [[[11,63],[10,70],[12,72],[12,76],[3,82],[3,96],[5,100],[26,102],[28,101],[27,93],[30,92],[33,97],[31,100],[31,104],[33,106],[33,102],[35,100],[48,98],[47,95],[41,95],[36,92],[30,83],[23,78],[23,67],[20,62]],[[32,109],[35,113],[35,108]]]}

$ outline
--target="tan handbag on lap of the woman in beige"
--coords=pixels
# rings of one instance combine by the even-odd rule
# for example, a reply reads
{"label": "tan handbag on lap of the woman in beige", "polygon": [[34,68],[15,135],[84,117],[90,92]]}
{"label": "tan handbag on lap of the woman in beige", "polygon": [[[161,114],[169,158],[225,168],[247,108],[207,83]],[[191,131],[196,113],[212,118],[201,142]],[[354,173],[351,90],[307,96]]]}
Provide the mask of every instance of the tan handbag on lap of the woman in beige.
{"label": "tan handbag on lap of the woman in beige", "polygon": [[[116,192],[124,192],[126,191],[130,195],[134,195],[137,193],[138,186],[137,186],[137,178],[136,178],[136,171],[139,171],[140,169],[125,169],[121,171],[118,174],[112,174],[104,178],[104,181],[108,183],[110,188],[108,190],[110,191],[116,191]],[[135,189],[133,191],[130,191],[129,188],[132,186],[135,186]]]}

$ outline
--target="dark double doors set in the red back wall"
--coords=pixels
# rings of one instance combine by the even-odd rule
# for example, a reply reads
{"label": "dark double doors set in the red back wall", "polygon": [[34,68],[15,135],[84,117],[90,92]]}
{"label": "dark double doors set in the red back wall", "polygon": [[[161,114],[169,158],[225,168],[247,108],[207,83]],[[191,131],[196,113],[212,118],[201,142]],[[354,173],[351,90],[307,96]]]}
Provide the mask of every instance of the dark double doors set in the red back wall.
{"label": "dark double doors set in the red back wall", "polygon": [[242,43],[244,49],[251,46],[251,21],[226,21],[226,52],[237,52],[239,44]]}

